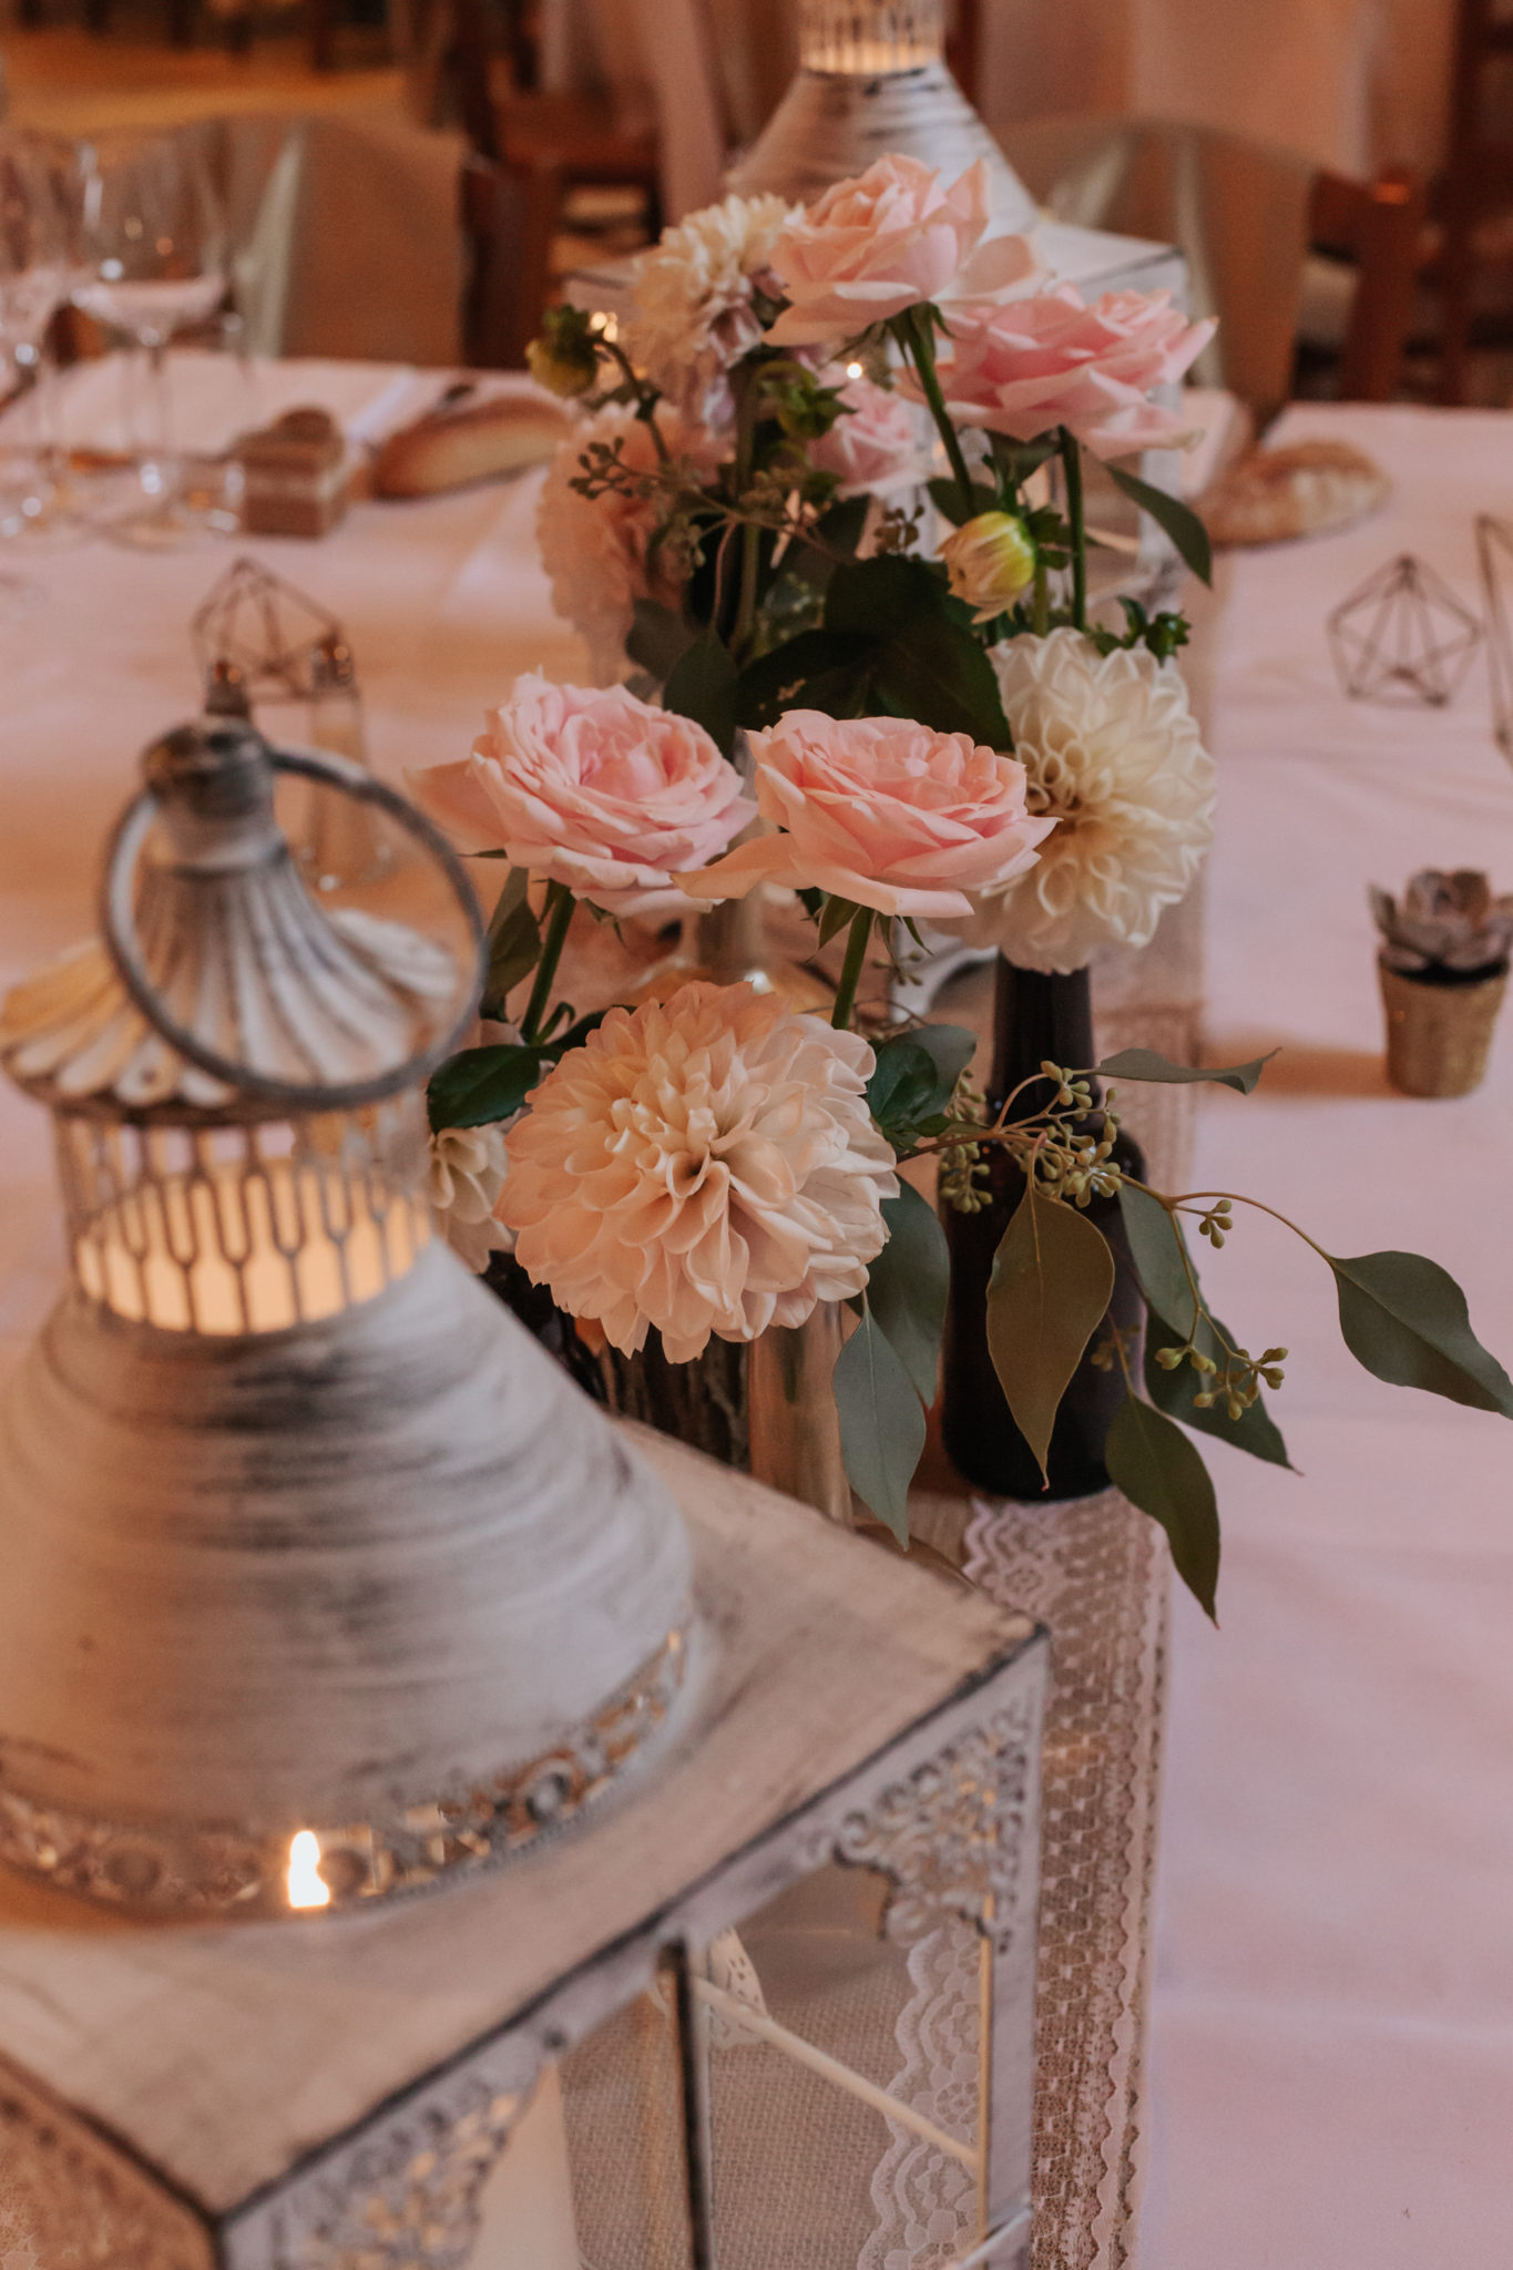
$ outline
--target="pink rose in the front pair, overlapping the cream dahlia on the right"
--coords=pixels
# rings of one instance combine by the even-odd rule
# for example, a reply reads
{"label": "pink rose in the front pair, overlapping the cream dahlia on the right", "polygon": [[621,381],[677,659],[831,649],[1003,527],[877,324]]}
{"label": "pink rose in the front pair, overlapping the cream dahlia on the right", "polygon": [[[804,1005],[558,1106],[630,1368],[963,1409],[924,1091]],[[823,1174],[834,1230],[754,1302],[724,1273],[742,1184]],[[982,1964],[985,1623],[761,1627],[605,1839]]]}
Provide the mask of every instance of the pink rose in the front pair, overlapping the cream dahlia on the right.
{"label": "pink rose in the front pair, overlapping the cream dahlia on the right", "polygon": [[828,890],[882,915],[966,915],[1034,865],[1053,822],[1025,810],[1025,767],[907,717],[789,711],[751,735],[758,808],[787,833],[739,844],[678,881],[690,899],[753,883]]}

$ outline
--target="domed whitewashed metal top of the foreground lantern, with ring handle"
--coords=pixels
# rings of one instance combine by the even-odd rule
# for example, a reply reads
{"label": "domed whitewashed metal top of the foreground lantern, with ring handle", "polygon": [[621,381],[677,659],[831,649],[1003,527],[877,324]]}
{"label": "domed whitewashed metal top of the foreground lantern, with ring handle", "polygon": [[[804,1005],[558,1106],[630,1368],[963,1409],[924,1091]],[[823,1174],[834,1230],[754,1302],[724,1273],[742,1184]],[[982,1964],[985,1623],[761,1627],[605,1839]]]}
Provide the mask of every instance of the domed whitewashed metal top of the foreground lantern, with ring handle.
{"label": "domed whitewashed metal top of the foreground lantern, with ring handle", "polygon": [[[408,865],[318,903],[279,776]],[[440,897],[429,933],[402,892]],[[0,1405],[0,1857],[122,1905],[363,1905],[529,1848],[683,1682],[665,1487],[433,1235],[424,1081],[479,917],[361,765],[202,720],[0,1062],[73,1285]]]}

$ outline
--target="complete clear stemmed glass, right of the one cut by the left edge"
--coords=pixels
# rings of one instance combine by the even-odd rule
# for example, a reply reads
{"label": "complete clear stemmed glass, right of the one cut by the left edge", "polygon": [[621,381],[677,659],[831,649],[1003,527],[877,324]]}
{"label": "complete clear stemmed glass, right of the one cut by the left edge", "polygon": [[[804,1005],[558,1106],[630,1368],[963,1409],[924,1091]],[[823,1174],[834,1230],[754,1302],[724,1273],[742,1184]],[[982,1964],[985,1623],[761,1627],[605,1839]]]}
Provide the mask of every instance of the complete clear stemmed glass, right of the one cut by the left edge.
{"label": "complete clear stemmed glass, right of the one cut by the left edge", "polygon": [[84,157],[84,275],[75,304],[145,359],[136,495],[111,533],[175,545],[206,533],[175,447],[168,343],[227,293],[227,222],[193,136],[102,136]]}

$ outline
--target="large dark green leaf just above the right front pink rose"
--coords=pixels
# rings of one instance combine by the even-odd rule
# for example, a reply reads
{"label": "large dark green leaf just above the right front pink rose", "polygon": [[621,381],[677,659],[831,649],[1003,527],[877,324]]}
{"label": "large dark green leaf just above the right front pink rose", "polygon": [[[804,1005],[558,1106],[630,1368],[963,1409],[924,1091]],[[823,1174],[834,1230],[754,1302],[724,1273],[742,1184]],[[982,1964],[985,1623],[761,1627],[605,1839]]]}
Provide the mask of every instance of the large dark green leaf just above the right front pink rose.
{"label": "large dark green leaf just above the right front pink rose", "polygon": [[916,717],[937,733],[971,733],[989,749],[1014,747],[971,613],[925,561],[885,554],[837,568],[826,592],[826,629],[876,642],[873,695],[885,711]]}

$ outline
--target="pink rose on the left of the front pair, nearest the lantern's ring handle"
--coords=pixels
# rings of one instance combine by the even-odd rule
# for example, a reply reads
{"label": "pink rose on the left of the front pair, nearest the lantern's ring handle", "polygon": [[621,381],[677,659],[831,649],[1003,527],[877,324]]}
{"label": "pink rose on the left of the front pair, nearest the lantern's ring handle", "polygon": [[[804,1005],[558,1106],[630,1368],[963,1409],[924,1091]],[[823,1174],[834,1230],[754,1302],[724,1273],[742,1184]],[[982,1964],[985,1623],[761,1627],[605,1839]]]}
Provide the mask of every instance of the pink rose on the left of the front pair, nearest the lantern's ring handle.
{"label": "pink rose on the left of the front pair, nearest the lantern's ring handle", "polygon": [[472,756],[411,774],[411,788],[463,851],[504,851],[617,915],[715,858],[755,813],[692,717],[535,672]]}

